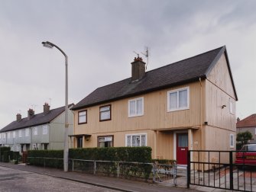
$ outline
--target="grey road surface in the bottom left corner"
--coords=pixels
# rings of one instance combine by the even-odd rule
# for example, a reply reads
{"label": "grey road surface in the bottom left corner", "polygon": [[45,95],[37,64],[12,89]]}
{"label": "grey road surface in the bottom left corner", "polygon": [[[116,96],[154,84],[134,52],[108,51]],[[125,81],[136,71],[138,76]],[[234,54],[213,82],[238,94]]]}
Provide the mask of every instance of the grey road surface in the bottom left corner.
{"label": "grey road surface in the bottom left corner", "polygon": [[103,187],[53,178],[44,174],[0,167],[0,191],[28,192],[28,191],[105,191],[114,192]]}

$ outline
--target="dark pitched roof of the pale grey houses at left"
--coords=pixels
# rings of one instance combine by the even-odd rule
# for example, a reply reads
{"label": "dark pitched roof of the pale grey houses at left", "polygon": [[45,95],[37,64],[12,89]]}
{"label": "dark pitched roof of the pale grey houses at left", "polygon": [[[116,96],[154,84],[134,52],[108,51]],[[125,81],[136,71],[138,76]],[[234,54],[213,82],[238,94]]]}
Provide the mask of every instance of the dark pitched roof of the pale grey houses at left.
{"label": "dark pitched roof of the pale grey houses at left", "polygon": [[[69,105],[69,107],[72,107],[72,106],[73,104]],[[37,126],[45,123],[50,123],[50,121],[52,121],[53,119],[58,117],[60,114],[62,114],[63,111],[65,111],[65,106],[52,109],[49,111],[48,114],[44,114],[44,113],[35,114],[34,116],[31,117],[30,120],[28,120],[28,117],[22,118],[19,121],[15,120],[10,124],[8,124],[8,126],[5,126],[4,128],[2,128],[2,130],[0,130],[0,133],[10,131],[10,130],[18,130],[28,126]]]}

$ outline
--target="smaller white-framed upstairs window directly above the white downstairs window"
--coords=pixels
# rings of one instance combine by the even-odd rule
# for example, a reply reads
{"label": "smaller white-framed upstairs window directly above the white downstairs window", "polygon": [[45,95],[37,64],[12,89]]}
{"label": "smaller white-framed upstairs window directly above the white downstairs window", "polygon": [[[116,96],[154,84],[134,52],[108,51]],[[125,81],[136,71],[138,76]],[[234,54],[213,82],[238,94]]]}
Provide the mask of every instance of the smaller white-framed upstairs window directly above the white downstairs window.
{"label": "smaller white-framed upstairs window directly above the white downstairs window", "polygon": [[144,115],[144,98],[135,98],[128,101],[128,117]]}

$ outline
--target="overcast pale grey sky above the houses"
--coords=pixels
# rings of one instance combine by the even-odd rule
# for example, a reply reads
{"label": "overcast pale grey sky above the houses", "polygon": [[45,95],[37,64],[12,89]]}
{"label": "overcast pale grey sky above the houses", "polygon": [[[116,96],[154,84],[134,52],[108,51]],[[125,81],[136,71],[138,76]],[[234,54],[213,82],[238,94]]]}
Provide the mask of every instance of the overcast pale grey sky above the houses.
{"label": "overcast pale grey sky above the houses", "polygon": [[[28,108],[69,103],[131,76],[149,46],[147,71],[226,46],[238,94],[237,117],[256,113],[256,1],[0,0],[0,129]],[[142,55],[141,55],[142,56]]]}

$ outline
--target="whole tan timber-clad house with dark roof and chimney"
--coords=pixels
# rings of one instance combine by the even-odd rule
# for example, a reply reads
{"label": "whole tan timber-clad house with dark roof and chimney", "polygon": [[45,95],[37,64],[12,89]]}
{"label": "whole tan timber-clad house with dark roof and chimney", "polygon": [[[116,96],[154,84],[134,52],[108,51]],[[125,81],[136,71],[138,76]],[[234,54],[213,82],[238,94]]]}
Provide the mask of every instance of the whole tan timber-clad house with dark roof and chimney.
{"label": "whole tan timber-clad house with dark roof and chimney", "polygon": [[[188,149],[234,149],[238,100],[225,46],[97,88],[73,107],[75,147],[150,146],[186,164]],[[232,145],[231,145],[232,144]]]}

